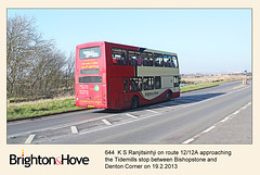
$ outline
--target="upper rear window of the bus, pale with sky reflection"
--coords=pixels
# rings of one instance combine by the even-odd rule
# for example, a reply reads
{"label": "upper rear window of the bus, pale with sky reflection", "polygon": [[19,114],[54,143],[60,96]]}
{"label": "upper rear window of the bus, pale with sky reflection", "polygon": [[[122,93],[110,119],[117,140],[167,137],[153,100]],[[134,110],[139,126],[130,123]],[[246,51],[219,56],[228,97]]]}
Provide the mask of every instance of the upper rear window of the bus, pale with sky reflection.
{"label": "upper rear window of the bus, pale with sky reflection", "polygon": [[101,48],[93,47],[93,48],[83,48],[79,50],[79,59],[93,59],[101,57]]}

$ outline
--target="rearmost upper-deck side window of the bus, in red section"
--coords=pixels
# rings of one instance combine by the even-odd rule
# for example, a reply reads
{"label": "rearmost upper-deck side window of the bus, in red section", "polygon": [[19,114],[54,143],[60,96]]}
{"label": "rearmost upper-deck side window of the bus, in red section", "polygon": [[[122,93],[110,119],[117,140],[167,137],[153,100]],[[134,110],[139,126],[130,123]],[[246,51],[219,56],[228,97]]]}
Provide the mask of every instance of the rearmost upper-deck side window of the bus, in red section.
{"label": "rearmost upper-deck side window of the bus, in red section", "polygon": [[112,59],[113,64],[127,65],[128,64],[127,50],[120,48],[112,48]]}

